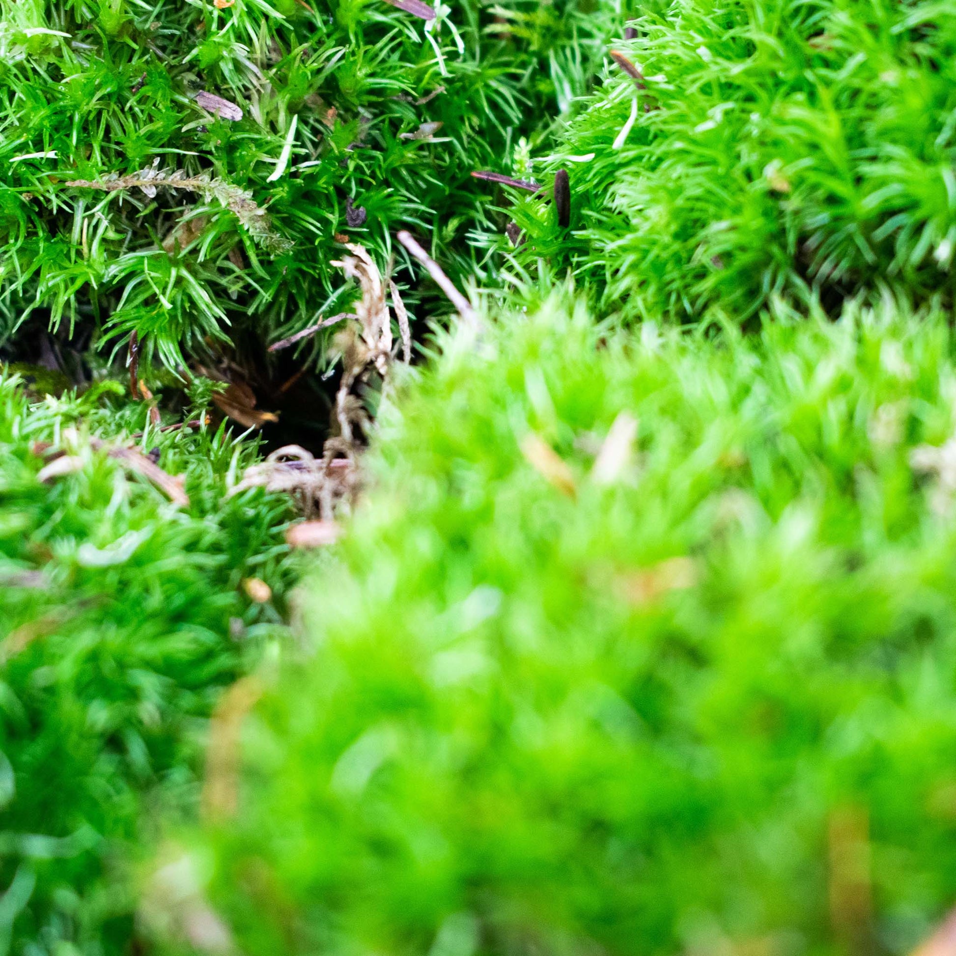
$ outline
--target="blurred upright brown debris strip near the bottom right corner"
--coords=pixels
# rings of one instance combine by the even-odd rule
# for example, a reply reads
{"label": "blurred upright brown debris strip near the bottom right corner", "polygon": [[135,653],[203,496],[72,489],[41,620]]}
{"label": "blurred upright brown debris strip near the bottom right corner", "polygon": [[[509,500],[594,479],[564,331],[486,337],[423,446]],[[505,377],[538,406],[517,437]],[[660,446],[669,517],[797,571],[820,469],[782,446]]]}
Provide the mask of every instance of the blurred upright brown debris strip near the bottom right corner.
{"label": "blurred upright brown debris strip near the bottom right corner", "polygon": [[846,952],[873,952],[873,888],[870,879],[869,817],[861,807],[830,815],[830,921]]}

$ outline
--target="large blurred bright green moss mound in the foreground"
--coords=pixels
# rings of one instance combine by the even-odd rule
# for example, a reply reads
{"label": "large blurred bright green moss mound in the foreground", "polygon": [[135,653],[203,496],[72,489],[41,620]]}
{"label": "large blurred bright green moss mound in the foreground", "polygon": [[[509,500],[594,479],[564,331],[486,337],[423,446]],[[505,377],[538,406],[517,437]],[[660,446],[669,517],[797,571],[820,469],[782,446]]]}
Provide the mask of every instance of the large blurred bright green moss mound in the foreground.
{"label": "large blurred bright green moss mound in the foreground", "polygon": [[956,900],[944,318],[439,344],[166,951],[906,952]]}

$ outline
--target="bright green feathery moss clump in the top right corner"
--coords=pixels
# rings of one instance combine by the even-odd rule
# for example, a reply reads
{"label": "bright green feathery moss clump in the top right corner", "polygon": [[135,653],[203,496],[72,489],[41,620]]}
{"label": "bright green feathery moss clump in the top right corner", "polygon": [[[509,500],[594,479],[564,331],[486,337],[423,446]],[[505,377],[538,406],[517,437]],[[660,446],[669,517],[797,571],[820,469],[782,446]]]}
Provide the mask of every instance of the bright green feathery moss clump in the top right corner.
{"label": "bright green feathery moss clump in the top right corner", "polygon": [[[624,315],[745,320],[774,295],[832,315],[895,285],[952,302],[956,24],[919,0],[675,0],[619,42],[516,255],[572,265]],[[573,159],[576,157],[576,159]],[[508,249],[496,240],[499,248]]]}

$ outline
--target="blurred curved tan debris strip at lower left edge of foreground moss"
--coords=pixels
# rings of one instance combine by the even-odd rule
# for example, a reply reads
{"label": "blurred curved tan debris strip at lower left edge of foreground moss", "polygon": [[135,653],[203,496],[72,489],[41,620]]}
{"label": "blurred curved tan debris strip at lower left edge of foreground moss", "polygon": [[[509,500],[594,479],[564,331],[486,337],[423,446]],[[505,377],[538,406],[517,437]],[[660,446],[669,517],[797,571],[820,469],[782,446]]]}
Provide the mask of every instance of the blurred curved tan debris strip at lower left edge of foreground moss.
{"label": "blurred curved tan debris strip at lower left edge of foreground moss", "polygon": [[236,814],[239,805],[239,733],[242,722],[262,696],[262,684],[244,677],[220,698],[209,721],[203,814],[221,823]]}

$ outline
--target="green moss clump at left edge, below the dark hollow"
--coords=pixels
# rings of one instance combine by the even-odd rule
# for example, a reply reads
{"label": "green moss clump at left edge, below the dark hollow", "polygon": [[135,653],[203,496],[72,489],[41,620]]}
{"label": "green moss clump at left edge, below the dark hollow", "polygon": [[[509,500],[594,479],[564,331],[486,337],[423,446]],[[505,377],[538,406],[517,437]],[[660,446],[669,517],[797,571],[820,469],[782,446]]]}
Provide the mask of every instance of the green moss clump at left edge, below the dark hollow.
{"label": "green moss clump at left edge, below the dark hollow", "polygon": [[[0,377],[4,953],[130,952],[134,860],[161,813],[194,812],[206,718],[281,633],[292,583],[288,503],[223,498],[254,445],[147,434],[142,453],[185,476],[177,508],[108,457],[115,440],[96,447],[142,427],[111,390],[31,404]],[[251,603],[249,577],[271,599]]]}

